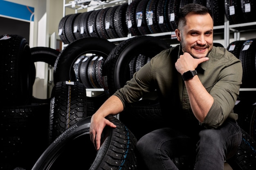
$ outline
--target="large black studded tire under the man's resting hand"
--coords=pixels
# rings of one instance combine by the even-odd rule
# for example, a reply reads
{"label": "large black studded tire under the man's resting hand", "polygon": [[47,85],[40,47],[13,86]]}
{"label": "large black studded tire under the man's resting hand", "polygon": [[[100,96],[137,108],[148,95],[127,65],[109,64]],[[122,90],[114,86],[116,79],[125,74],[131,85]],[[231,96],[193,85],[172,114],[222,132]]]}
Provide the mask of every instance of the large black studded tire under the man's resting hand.
{"label": "large black studded tire under the man's resting hand", "polygon": [[[63,132],[39,157],[32,170],[89,169],[89,170],[136,170],[135,146],[137,139],[118,119],[108,116],[117,128],[106,127],[100,150],[97,152],[90,141],[90,119],[87,117]],[[74,150],[74,145],[79,150]],[[70,156],[76,155],[79,157]],[[86,153],[82,154],[81,153]],[[88,154],[90,156],[88,157]],[[69,157],[69,162],[63,159]]]}

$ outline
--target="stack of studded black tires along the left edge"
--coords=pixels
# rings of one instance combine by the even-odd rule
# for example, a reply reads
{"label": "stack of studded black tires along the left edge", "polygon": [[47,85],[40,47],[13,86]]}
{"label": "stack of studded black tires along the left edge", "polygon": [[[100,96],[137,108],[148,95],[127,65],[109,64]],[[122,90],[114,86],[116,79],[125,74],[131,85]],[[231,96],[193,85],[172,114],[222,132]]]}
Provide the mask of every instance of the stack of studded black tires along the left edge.
{"label": "stack of studded black tires along the left edge", "polygon": [[[27,40],[19,35],[0,36],[0,168],[27,167],[47,148],[49,100],[32,96],[38,60]],[[30,163],[31,166],[31,163]]]}

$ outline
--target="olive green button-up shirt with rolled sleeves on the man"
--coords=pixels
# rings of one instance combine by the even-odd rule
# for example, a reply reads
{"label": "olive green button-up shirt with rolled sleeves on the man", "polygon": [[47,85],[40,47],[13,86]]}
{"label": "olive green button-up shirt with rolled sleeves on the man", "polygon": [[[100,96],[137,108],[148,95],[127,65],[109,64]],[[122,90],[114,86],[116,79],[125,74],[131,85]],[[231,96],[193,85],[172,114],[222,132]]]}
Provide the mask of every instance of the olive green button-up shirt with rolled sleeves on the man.
{"label": "olive green button-up shirt with rolled sleeves on the man", "polygon": [[[121,99],[125,108],[127,102],[138,101],[145,93],[157,91],[161,110],[170,124],[195,120],[182,75],[175,68],[175,62],[182,54],[180,45],[160,52],[114,95]],[[225,48],[213,46],[207,57],[209,60],[196,70],[214,102],[204,121],[196,121],[205,128],[218,128],[227,117],[238,118],[233,108],[242,83],[243,69],[240,60]]]}

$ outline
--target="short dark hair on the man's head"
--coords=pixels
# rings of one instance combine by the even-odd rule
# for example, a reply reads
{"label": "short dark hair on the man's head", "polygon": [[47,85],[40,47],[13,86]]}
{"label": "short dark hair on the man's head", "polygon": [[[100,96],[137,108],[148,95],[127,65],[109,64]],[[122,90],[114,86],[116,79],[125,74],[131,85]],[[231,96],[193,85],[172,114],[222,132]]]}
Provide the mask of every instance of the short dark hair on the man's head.
{"label": "short dark hair on the man's head", "polygon": [[184,7],[180,8],[180,12],[178,13],[178,28],[183,27],[186,24],[185,17],[189,13],[195,13],[200,15],[206,15],[207,13],[209,13],[213,20],[212,11],[209,8],[196,3],[186,4],[184,5]]}

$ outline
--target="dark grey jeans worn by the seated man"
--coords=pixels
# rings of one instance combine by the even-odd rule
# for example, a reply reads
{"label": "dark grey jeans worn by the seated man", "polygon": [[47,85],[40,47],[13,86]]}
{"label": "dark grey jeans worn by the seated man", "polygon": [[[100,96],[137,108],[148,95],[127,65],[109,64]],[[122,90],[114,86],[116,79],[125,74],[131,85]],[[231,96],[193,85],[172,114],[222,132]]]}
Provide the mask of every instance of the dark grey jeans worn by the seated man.
{"label": "dark grey jeans worn by the seated man", "polygon": [[[137,142],[143,170],[178,170],[172,158],[195,152],[194,170],[223,170],[224,161],[235,155],[242,135],[236,121],[227,119],[218,129],[202,129],[196,142],[171,128],[150,132]],[[141,167],[140,167],[141,169]]]}

